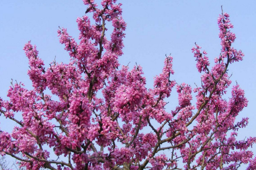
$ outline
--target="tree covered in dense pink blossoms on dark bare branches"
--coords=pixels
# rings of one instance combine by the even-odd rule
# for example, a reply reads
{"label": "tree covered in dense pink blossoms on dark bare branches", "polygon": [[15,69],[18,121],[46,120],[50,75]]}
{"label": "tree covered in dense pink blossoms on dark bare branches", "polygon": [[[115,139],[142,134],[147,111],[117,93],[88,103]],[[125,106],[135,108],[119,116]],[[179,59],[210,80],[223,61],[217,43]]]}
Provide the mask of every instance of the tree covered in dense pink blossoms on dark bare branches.
{"label": "tree covered in dense pink blossoms on dark bare branches", "polygon": [[[248,118],[235,122],[247,106],[244,91],[235,85],[232,97],[223,97],[231,84],[228,66],[244,56],[232,46],[236,37],[228,14],[218,18],[221,54],[211,68],[207,52],[197,44],[192,48],[202,73],[201,87],[193,89],[194,106],[191,86],[170,80],[171,56],[152,89],[145,88],[139,65],[119,67],[126,27],[120,3],[102,0],[101,8],[93,0],[84,4],[94,24],[87,16],[77,19],[80,42],[65,28],[58,30],[70,63],[54,61],[45,68],[36,46],[25,45],[33,89],[12,83],[9,100],[0,98],[1,114],[17,123],[12,133],[0,131],[2,156],[16,158],[29,170],[236,170],[241,164],[256,169],[247,150],[256,138],[236,140],[237,130],[248,123]],[[107,22],[113,26],[110,40]],[[164,99],[175,86],[179,104],[168,112]],[[54,154],[58,159],[52,159]]]}

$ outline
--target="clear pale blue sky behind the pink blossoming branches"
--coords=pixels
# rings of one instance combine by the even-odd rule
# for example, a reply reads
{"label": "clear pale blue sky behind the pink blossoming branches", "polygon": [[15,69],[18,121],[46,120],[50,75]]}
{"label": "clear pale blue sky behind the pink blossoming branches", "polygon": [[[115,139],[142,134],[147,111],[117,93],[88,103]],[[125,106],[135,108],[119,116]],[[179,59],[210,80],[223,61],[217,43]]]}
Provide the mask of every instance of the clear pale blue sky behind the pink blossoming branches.
{"label": "clear pale blue sky behind the pink blossoming branches", "polygon": [[[171,79],[186,82],[192,87],[200,85],[200,74],[195,67],[191,48],[197,42],[208,52],[210,62],[220,54],[217,17],[230,14],[235,48],[241,49],[244,60],[231,65],[229,74],[244,89],[249,105],[238,119],[249,117],[249,125],[240,130],[239,138],[256,136],[256,2],[255,0],[120,0],[123,18],[127,22],[122,65],[142,65],[147,87],[153,85],[153,77],[163,67],[165,54],[172,54],[175,74]],[[59,44],[58,26],[67,28],[78,40],[76,18],[84,15],[86,6],[82,0],[0,0],[0,96],[6,98],[11,79],[32,87],[27,76],[28,59],[24,44],[31,40],[37,45],[39,56],[46,67],[56,56],[57,62],[68,62],[64,45]],[[227,94],[227,97],[230,94]],[[172,109],[177,95],[169,99]],[[169,111],[170,111],[169,110]],[[2,130],[11,130],[12,124],[0,119]],[[256,145],[255,145],[256,147]],[[256,149],[254,149],[256,150]],[[255,152],[256,153],[256,152]]]}

